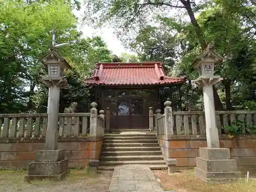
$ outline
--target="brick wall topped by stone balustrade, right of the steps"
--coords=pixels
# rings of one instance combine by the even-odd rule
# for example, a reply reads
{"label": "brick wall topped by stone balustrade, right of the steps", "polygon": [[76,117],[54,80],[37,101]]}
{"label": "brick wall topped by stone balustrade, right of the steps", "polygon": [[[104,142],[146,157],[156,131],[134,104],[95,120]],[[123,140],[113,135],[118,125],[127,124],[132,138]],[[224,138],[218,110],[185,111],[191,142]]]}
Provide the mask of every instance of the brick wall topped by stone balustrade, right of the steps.
{"label": "brick wall topped by stone balustrade, right of the steps", "polygon": [[[215,115],[220,147],[230,149],[231,159],[237,160],[239,169],[255,168],[256,111],[216,111]],[[172,124],[165,121],[170,116]],[[199,147],[207,147],[204,111],[170,113],[165,110],[161,114],[158,109],[149,118],[153,120],[168,173],[174,172],[175,166],[181,169],[195,167]],[[237,133],[230,137],[232,129]]]}

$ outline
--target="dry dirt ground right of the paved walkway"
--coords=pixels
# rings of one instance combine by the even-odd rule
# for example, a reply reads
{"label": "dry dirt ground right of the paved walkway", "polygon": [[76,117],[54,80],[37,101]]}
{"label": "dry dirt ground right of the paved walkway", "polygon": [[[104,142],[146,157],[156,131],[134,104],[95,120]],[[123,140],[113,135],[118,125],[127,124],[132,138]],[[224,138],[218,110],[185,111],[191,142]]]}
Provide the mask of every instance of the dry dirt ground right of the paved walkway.
{"label": "dry dirt ground right of the paved walkway", "polygon": [[[194,169],[180,170],[169,176],[167,170],[153,170],[161,187],[175,192],[253,192],[256,191],[256,172],[250,173],[249,182],[242,179],[225,184],[206,184],[195,177]],[[243,175],[243,178],[246,176]]]}

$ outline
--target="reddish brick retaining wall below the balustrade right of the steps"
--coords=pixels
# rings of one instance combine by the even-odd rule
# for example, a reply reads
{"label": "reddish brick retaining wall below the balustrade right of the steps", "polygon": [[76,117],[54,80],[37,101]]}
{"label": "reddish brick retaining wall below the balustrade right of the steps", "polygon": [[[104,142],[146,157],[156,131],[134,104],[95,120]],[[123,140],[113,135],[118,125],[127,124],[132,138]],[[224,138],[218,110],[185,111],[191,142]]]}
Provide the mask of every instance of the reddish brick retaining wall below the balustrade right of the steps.
{"label": "reddish brick retaining wall below the balustrade right of the steps", "polygon": [[[162,154],[178,160],[178,168],[196,166],[199,147],[206,147],[206,136],[158,136]],[[237,160],[239,169],[256,167],[256,135],[235,136],[229,139],[220,136],[220,146],[230,148],[231,159]]]}

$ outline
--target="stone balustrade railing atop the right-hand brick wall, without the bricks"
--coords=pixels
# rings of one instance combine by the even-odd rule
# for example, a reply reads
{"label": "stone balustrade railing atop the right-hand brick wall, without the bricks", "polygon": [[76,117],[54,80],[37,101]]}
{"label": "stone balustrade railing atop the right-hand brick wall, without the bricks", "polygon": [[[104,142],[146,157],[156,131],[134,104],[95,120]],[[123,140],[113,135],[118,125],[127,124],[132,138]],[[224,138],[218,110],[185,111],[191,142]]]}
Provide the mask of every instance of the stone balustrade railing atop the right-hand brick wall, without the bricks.
{"label": "stone balustrade railing atop the right-hand brick wall, without the bricks", "polygon": [[[219,134],[229,134],[228,128],[237,129],[240,134],[255,134],[256,111],[216,111],[216,125]],[[154,114],[157,135],[166,135],[161,110]],[[169,135],[205,135],[205,115],[203,111],[172,112],[173,134]],[[173,128],[172,128],[173,126]]]}

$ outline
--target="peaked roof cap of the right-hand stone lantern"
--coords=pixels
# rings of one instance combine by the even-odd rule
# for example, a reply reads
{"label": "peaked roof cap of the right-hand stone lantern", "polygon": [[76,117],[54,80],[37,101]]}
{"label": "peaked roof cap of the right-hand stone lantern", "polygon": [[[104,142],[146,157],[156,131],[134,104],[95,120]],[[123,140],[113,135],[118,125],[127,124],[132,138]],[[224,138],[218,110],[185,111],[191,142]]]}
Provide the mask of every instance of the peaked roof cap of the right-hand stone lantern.
{"label": "peaked roof cap of the right-hand stone lantern", "polygon": [[205,48],[205,50],[203,51],[203,53],[201,53],[200,55],[198,55],[196,57],[196,60],[193,62],[193,67],[194,68],[198,68],[198,65],[200,64],[200,61],[205,57],[215,57],[216,59],[216,62],[220,62],[223,60],[223,57],[217,53],[215,50],[214,50],[214,45],[211,44],[211,43],[208,43],[207,47]]}

